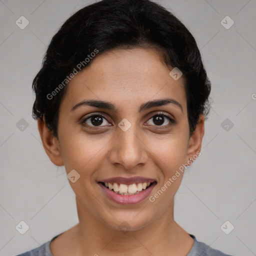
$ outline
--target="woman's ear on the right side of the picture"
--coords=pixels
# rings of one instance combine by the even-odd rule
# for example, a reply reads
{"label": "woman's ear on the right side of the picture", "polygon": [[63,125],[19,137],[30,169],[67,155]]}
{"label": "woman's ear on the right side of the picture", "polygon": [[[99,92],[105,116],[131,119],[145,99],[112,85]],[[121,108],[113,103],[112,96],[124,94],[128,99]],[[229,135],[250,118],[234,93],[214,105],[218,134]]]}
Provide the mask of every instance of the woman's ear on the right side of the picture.
{"label": "woman's ear on the right side of the picture", "polygon": [[203,114],[200,114],[196,128],[189,138],[186,162],[189,160],[190,157],[194,159],[194,155],[198,156],[201,150],[203,135],[204,135],[204,116]]}

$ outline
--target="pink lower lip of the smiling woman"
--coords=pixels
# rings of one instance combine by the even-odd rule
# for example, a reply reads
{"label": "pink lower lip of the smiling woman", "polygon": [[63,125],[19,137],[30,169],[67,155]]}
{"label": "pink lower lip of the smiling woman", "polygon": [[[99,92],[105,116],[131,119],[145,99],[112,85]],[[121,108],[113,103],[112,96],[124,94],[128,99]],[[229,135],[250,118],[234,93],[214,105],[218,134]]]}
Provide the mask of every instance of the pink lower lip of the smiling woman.
{"label": "pink lower lip of the smiling woman", "polygon": [[106,196],[111,200],[113,200],[114,202],[117,202],[120,204],[135,204],[143,201],[150,194],[150,192],[152,191],[156,183],[151,184],[148,188],[142,190],[138,194],[133,194],[133,195],[117,194],[114,191],[105,187],[101,183],[98,183],[98,185],[101,187],[101,189],[106,194]]}

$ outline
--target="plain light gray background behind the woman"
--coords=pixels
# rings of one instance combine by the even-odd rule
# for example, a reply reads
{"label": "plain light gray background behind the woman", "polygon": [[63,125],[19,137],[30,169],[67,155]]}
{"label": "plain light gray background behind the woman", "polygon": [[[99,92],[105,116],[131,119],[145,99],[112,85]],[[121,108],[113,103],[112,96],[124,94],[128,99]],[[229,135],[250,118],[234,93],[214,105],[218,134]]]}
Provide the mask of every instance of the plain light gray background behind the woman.
{"label": "plain light gray background behind the woman", "polygon": [[[256,1],[158,0],[194,35],[212,82],[212,110],[201,156],[176,194],[175,220],[213,248],[256,255]],[[31,117],[31,82],[59,26],[89,1],[0,0],[0,255],[39,246],[77,223],[74,192],[64,167],[43,150]],[[24,15],[21,30],[15,21]],[[234,24],[225,29],[226,16]],[[24,118],[29,126],[20,131]],[[226,131],[221,123],[230,119]],[[21,235],[21,221],[29,229]],[[225,234],[220,226],[230,221]],[[155,255],[156,256],[156,255]]]}

